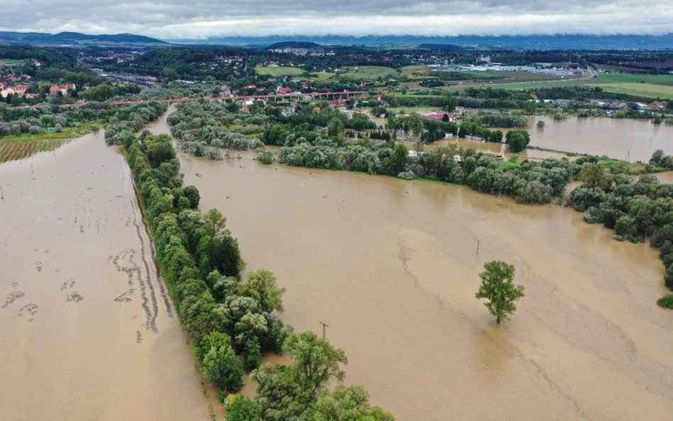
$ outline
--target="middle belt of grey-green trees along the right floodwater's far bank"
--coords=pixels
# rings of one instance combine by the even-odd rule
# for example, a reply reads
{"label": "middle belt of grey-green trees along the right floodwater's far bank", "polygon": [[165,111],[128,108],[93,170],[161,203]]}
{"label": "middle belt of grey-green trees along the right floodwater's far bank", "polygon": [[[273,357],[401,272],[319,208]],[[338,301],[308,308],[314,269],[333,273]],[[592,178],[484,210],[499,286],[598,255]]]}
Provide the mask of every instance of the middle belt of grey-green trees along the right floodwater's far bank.
{"label": "middle belt of grey-green trees along the right floodwater's far bank", "polygon": [[339,146],[329,138],[308,141],[292,134],[285,145],[280,148],[279,159],[288,165],[427,177],[466,184],[494,195],[513,196],[525,203],[548,203],[552,196],[562,195],[567,182],[580,171],[579,165],[566,159],[528,162],[521,168],[503,170],[488,155],[455,144],[432,148],[417,156],[408,156],[403,143],[392,141],[376,146],[361,143]]}

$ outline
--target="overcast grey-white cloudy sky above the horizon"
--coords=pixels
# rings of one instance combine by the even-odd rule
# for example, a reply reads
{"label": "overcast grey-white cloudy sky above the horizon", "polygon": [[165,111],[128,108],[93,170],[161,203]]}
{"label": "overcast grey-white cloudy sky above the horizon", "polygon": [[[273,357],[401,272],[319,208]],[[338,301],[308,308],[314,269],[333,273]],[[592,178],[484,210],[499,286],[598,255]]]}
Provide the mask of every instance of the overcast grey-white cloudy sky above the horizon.
{"label": "overcast grey-white cloudy sky above the horizon", "polygon": [[218,35],[673,33],[670,0],[2,0],[0,30]]}

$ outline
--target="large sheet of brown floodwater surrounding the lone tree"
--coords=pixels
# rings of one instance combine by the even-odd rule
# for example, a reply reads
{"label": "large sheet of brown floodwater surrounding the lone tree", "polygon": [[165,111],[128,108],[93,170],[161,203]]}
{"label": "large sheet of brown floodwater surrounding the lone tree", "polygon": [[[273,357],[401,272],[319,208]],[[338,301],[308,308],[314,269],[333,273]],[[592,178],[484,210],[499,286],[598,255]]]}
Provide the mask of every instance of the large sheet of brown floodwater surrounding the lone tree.
{"label": "large sheet of brown floodwater surrounding the lone tree", "polygon": [[[166,133],[159,123],[153,131]],[[273,270],[283,319],[346,350],[349,383],[400,421],[663,420],[673,313],[662,265],[562,207],[467,188],[180,155],[248,270]],[[477,241],[479,252],[476,254]],[[478,273],[513,263],[526,297],[498,325]]]}

